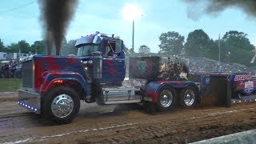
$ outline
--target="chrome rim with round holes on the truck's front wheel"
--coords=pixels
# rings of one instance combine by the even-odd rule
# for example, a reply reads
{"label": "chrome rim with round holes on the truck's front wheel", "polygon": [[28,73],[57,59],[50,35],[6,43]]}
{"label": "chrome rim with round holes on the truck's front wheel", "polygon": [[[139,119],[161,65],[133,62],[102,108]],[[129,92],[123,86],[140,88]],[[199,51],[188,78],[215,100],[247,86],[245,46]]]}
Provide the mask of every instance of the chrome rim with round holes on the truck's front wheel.
{"label": "chrome rim with round holes on the truck's front wheel", "polygon": [[73,99],[68,94],[60,94],[51,103],[51,111],[58,118],[65,118],[74,109]]}

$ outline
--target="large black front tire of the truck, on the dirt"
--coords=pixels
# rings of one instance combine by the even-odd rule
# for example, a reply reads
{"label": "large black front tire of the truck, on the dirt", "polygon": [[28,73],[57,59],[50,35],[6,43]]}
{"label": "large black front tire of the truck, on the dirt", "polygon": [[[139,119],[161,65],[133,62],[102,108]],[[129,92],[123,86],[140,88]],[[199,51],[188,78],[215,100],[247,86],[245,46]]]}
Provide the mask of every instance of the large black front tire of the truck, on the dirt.
{"label": "large black front tire of the truck, on the dirt", "polygon": [[[66,94],[65,99],[64,99],[64,96],[62,96],[62,94]],[[45,98],[42,104],[43,105],[42,110],[46,118],[50,118],[52,121],[58,124],[67,124],[72,122],[72,120],[78,114],[78,111],[80,109],[80,99],[74,89],[67,86],[58,86],[53,90],[50,90],[50,92],[46,94],[44,97]],[[61,100],[58,100],[58,98],[63,98],[62,102],[66,102],[71,105],[71,106],[70,105],[66,106],[66,103],[65,103],[65,106],[67,107],[67,109],[72,109],[72,110],[65,109],[65,112],[69,114],[67,114],[63,118],[61,115],[64,115],[63,114],[64,112],[62,111],[62,114],[60,114],[58,110],[54,109],[54,106],[62,105],[61,103],[59,103],[58,105],[58,101],[61,101]],[[73,102],[73,106],[71,101]],[[56,102],[56,103],[53,103],[53,102]]]}

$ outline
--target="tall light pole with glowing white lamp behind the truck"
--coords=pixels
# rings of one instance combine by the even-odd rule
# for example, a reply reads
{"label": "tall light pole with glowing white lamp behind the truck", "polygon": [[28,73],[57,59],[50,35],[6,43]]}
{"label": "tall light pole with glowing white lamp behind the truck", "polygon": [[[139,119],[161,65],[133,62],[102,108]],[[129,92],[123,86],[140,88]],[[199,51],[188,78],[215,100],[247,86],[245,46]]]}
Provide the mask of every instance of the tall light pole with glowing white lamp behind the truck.
{"label": "tall light pole with glowing white lamp behind the truck", "polygon": [[142,10],[140,10],[139,7],[134,4],[129,4],[123,8],[122,16],[126,18],[126,20],[133,22],[132,47],[130,51],[132,54],[134,54],[134,21],[142,16]]}

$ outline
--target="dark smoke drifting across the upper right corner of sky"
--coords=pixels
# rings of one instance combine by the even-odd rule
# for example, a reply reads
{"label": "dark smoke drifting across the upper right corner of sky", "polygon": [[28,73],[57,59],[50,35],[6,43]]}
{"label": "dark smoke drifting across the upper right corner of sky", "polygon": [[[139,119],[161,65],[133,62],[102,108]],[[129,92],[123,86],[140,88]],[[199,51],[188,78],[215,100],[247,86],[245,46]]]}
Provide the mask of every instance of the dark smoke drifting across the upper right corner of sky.
{"label": "dark smoke drifting across the upper right corner of sky", "polygon": [[[189,3],[188,17],[198,19],[200,14],[218,14],[226,8],[234,7],[243,10],[249,17],[256,18],[256,1],[255,0],[183,0]],[[200,5],[200,6],[198,6]],[[195,10],[202,9],[201,11]],[[194,13],[194,14],[193,14]]]}

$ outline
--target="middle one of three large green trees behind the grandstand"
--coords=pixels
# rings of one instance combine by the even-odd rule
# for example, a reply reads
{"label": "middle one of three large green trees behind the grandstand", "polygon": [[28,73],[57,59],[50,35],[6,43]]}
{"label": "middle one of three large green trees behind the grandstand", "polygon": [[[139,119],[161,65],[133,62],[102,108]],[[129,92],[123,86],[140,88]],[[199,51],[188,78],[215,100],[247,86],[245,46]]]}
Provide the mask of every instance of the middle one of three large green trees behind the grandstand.
{"label": "middle one of three large green trees behind the grandstand", "polygon": [[186,39],[185,51],[186,55],[198,57],[205,56],[214,41],[209,38],[208,34],[203,30],[194,30],[190,32]]}

